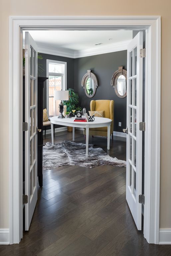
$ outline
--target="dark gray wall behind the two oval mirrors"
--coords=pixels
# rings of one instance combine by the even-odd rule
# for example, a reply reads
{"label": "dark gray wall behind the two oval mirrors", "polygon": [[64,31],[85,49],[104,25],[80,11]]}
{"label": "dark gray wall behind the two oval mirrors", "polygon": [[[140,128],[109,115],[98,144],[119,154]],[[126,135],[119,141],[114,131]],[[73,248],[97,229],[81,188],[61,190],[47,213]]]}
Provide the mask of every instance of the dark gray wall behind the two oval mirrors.
{"label": "dark gray wall behind the two oval mirrors", "polygon": [[[114,100],[114,131],[122,132],[126,127],[126,97],[116,96],[114,88],[110,85],[113,73],[123,66],[127,70],[127,51],[112,52],[83,58],[74,61],[74,89],[79,94],[80,106],[90,110],[89,104],[93,100]],[[91,69],[96,74],[99,86],[95,95],[88,98],[81,86],[82,78]],[[121,127],[118,123],[121,122]]]}

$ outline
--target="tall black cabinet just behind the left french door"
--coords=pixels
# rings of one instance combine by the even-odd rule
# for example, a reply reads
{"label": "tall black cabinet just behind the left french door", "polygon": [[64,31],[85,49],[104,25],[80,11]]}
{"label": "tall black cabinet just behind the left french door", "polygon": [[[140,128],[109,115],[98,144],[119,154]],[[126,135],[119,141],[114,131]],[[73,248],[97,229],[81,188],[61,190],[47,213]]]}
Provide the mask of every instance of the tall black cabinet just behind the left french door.
{"label": "tall black cabinet just behind the left french door", "polygon": [[37,175],[39,179],[39,186],[43,186],[43,170],[42,170],[42,157],[43,157],[43,87],[44,82],[47,80],[47,77],[38,77],[37,82],[37,124],[38,129],[41,129],[41,132],[38,132],[37,135]]}

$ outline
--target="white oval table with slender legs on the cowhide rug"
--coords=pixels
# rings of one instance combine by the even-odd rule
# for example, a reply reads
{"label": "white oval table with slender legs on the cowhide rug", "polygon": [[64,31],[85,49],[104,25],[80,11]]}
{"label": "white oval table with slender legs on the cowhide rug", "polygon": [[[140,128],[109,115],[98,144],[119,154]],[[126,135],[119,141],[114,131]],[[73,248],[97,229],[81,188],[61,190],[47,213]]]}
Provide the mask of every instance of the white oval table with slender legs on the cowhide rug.
{"label": "white oval table with slender legs on the cowhide rug", "polygon": [[54,124],[72,126],[73,127],[73,141],[75,136],[75,127],[85,128],[86,129],[86,156],[88,155],[88,135],[89,128],[98,128],[107,126],[107,150],[110,149],[110,124],[111,119],[104,117],[94,117],[94,122],[74,122],[75,117],[72,118],[58,118],[58,116],[53,116],[50,118],[51,121],[51,135],[52,135],[52,145],[54,145],[54,135],[53,135],[53,126]]}

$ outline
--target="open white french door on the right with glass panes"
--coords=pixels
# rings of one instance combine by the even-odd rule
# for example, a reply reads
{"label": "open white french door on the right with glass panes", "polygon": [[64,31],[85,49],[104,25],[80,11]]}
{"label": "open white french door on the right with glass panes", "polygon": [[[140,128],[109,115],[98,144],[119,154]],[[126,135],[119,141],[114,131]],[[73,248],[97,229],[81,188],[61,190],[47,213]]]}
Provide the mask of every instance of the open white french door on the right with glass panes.
{"label": "open white french door on the right with glass panes", "polygon": [[143,32],[127,48],[127,135],[126,135],[126,200],[138,230],[141,230],[142,205],[142,72]]}

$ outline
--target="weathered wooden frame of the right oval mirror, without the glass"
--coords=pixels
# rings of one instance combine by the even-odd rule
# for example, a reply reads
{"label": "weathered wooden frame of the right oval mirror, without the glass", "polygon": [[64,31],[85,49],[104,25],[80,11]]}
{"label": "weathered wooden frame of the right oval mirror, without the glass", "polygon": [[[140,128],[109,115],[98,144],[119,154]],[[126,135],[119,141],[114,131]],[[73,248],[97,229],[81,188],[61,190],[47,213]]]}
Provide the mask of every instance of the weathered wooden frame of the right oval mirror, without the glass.
{"label": "weathered wooden frame of the right oval mirror, without the glass", "polygon": [[116,72],[114,72],[112,79],[111,79],[111,86],[113,86],[115,93],[119,98],[125,98],[126,92],[125,92],[125,94],[120,95],[117,91],[117,79],[120,75],[123,75],[126,79],[126,91],[127,91],[127,71],[125,69],[123,69],[123,66],[118,67],[118,70],[116,70]]}

